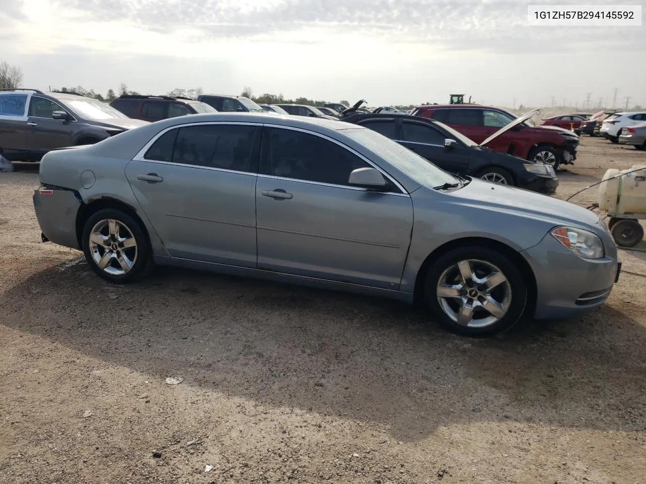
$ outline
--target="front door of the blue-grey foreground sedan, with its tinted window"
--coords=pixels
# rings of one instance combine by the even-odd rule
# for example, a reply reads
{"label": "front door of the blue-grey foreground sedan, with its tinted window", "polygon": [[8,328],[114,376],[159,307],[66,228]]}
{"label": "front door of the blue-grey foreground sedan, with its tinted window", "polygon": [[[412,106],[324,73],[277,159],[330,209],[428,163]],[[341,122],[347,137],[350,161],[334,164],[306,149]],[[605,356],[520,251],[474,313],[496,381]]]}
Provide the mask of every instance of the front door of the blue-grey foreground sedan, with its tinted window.
{"label": "front door of the blue-grey foreground sedan, with its tinted window", "polygon": [[413,207],[388,192],[348,185],[371,166],[330,139],[266,128],[256,185],[258,268],[397,290],[410,245]]}

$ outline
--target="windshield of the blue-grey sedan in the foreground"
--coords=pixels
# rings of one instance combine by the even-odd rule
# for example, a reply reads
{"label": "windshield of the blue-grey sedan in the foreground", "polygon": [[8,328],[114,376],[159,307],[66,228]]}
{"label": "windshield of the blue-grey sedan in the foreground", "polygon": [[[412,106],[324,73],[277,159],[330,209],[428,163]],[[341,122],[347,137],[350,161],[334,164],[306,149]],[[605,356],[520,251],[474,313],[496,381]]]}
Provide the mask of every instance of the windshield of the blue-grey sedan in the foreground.
{"label": "windshield of the blue-grey sedan in the foreground", "polygon": [[386,159],[397,170],[400,170],[418,183],[426,185],[426,187],[437,187],[444,185],[444,183],[460,183],[457,178],[441,170],[425,158],[376,131],[367,128],[355,128],[344,130],[343,134],[366,146],[369,150]]}

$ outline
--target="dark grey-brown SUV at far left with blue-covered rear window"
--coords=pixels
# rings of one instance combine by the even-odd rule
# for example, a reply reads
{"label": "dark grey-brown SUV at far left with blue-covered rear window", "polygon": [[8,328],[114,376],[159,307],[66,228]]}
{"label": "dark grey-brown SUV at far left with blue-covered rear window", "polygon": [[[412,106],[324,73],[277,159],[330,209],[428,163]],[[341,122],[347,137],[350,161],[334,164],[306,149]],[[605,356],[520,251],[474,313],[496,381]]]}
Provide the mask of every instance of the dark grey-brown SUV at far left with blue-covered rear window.
{"label": "dark grey-brown SUV at far left with blue-covered rear window", "polygon": [[147,124],[79,94],[0,90],[0,152],[10,161],[40,161],[54,148],[92,145]]}

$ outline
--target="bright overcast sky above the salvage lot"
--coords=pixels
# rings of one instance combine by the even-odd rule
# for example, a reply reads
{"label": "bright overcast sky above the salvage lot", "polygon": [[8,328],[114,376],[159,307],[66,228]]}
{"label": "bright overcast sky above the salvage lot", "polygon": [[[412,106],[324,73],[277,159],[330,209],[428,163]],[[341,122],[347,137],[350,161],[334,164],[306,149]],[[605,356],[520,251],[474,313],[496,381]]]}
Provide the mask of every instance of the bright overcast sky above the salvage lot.
{"label": "bright overcast sky above the salvage lot", "polygon": [[[121,82],[399,105],[646,106],[641,27],[529,27],[527,5],[645,0],[6,0],[0,61],[32,88]],[[643,14],[646,7],[642,6]]]}

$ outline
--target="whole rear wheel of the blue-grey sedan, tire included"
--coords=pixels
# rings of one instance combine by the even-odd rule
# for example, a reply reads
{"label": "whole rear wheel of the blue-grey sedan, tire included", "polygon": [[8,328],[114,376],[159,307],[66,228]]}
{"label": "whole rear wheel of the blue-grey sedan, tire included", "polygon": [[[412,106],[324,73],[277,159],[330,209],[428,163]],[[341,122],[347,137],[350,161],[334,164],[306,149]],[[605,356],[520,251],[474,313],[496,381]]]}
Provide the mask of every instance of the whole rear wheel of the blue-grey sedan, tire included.
{"label": "whole rear wheel of the blue-grey sedan, tire included", "polygon": [[[131,236],[134,238],[134,248],[123,248],[119,247],[118,241],[116,241],[110,234],[110,224],[108,220],[116,221],[117,232],[120,234],[120,237],[123,239],[129,239]],[[96,243],[90,242],[90,234],[92,231],[98,230],[99,227],[103,227],[103,222],[105,221],[105,228],[101,230],[101,236],[107,237],[105,241],[106,245],[112,245],[112,247],[106,249],[103,245],[98,245]],[[139,221],[135,220],[129,214],[118,210],[116,208],[105,208],[99,210],[95,214],[89,217],[85,226],[83,227],[83,235],[81,236],[81,242],[83,247],[83,253],[85,254],[85,260],[90,265],[90,268],[94,273],[105,279],[116,284],[125,284],[132,281],[136,281],[140,277],[147,276],[152,272],[154,264],[152,263],[152,254],[148,239],[145,234],[145,228],[141,227]],[[121,243],[123,246],[123,243]],[[107,259],[103,259],[103,256],[107,255]],[[99,261],[95,260],[95,256]],[[99,262],[107,261],[107,267],[99,267]],[[123,271],[123,265],[121,261],[127,261],[131,264],[127,272],[120,274],[120,270]],[[127,262],[125,263],[127,266]]]}

